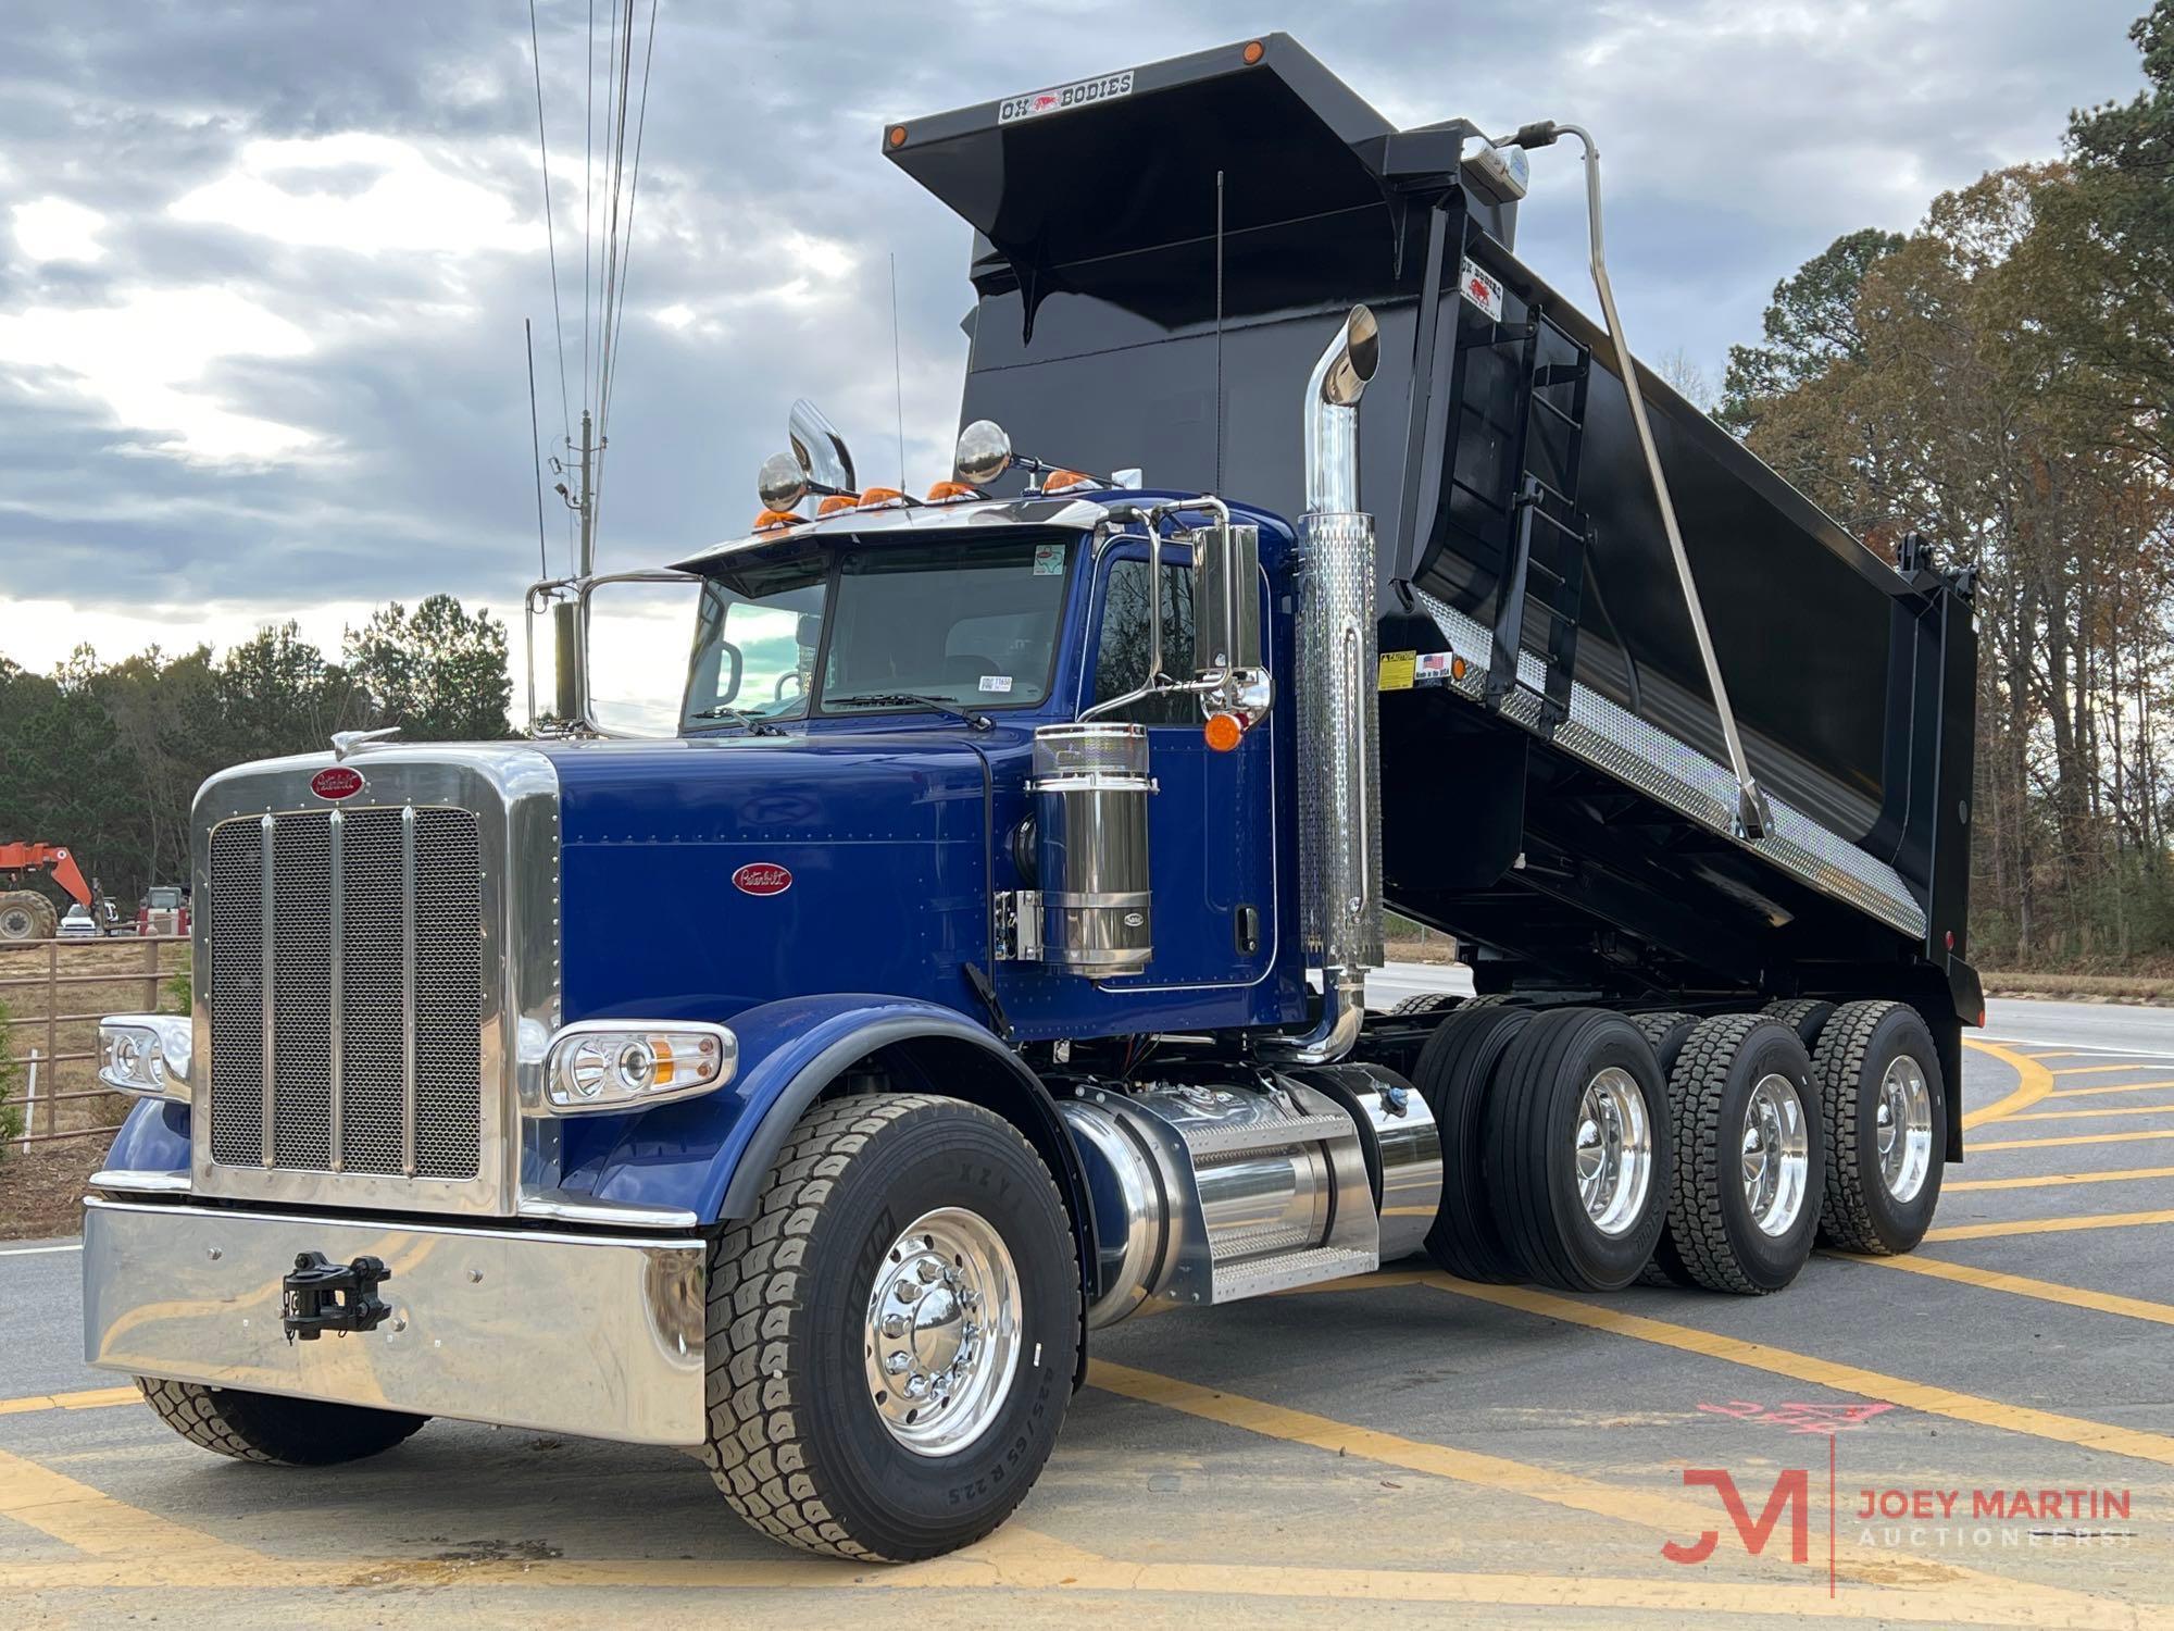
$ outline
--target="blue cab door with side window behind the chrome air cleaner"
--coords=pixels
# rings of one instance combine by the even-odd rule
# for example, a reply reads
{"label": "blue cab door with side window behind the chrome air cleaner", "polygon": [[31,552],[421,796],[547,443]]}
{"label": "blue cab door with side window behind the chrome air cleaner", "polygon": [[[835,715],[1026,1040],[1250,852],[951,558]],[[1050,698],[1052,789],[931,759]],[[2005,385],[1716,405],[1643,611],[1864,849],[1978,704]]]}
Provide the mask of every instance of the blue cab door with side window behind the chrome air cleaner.
{"label": "blue cab door with side window behind the chrome air cleaner", "polygon": [[[1148,674],[1148,555],[1111,546],[1096,568],[1096,626],[1080,709],[1137,689]],[[1267,585],[1263,626],[1267,624]],[[1194,574],[1161,568],[1163,672],[1194,674]],[[1270,731],[1248,731],[1230,752],[1202,735],[1200,700],[1150,696],[1096,715],[1148,726],[1148,879],[1154,887],[1154,959],[1144,974],[1104,989],[1252,985],[1276,950],[1274,748]]]}

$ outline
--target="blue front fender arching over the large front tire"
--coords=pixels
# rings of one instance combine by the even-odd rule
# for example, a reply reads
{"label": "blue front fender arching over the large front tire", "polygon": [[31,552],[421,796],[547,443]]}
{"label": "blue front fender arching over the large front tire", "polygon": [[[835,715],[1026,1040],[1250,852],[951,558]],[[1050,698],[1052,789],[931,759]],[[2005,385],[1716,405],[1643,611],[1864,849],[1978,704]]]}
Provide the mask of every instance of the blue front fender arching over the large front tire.
{"label": "blue front fender arching over the large front tire", "polygon": [[730,1024],[739,1070],[726,1087],[615,1122],[617,1142],[567,1170],[565,1187],[598,1200],[680,1207],[709,1222],[748,1218],[778,1150],[824,1087],[876,1048],[944,1039],[980,1048],[1017,1083],[1013,1120],[1044,1155],[1059,1157],[1057,1183],[1094,1274],[1094,1216],[1072,1135],[1041,1079],[987,1026],[937,1003],[872,992],[789,996],[744,1009]]}

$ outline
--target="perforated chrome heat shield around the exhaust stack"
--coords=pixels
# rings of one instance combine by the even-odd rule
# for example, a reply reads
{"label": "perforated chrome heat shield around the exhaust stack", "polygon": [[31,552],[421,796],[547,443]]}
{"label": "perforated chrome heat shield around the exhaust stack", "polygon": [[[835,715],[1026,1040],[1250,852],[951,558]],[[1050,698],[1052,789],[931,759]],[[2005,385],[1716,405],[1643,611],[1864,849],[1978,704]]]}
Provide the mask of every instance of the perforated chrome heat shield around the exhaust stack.
{"label": "perforated chrome heat shield around the exhaust stack", "polygon": [[1302,931],[1324,968],[1380,968],[1380,711],[1374,518],[1302,520],[1298,868]]}

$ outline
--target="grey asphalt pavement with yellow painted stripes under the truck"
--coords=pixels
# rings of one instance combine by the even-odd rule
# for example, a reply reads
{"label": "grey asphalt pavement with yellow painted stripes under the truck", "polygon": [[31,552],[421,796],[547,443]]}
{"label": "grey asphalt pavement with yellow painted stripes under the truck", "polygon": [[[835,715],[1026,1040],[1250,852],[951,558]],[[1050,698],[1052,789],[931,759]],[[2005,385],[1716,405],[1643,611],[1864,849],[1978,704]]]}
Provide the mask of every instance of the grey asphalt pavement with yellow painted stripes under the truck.
{"label": "grey asphalt pavement with yellow painted stripes under the truck", "polygon": [[209,1457],[9,1242],[0,1624],[2174,1624],[2174,1011],[1996,1003],[1963,1105],[1926,1246],[1774,1298],[1400,1266],[1102,1333],[1017,1518],[915,1568],[776,1551],[670,1451]]}

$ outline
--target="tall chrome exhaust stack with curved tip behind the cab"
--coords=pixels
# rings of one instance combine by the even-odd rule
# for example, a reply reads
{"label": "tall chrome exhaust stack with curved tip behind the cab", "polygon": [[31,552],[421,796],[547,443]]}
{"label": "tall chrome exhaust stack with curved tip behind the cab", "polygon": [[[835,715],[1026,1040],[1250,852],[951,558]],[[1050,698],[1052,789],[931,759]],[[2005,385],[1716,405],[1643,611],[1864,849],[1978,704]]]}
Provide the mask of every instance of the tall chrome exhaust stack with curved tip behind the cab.
{"label": "tall chrome exhaust stack with curved tip behind the cab", "polygon": [[1335,1063],[1359,1042],[1365,972],[1380,968],[1380,715],[1374,518],[1359,509],[1359,398],[1380,326],[1352,307],[1307,381],[1307,513],[1298,592],[1298,894],[1322,1013],[1263,1050]]}

